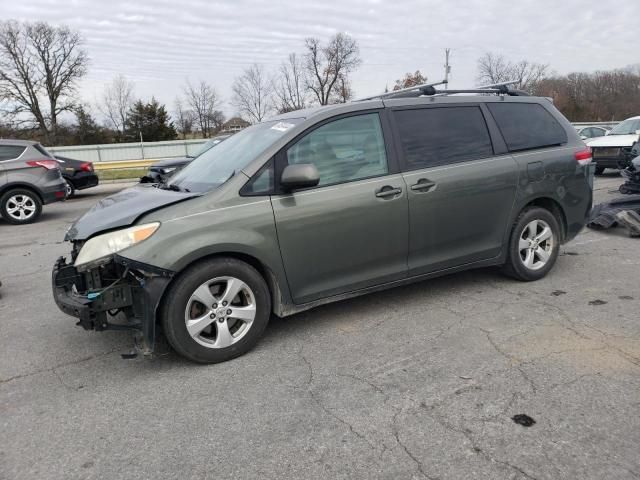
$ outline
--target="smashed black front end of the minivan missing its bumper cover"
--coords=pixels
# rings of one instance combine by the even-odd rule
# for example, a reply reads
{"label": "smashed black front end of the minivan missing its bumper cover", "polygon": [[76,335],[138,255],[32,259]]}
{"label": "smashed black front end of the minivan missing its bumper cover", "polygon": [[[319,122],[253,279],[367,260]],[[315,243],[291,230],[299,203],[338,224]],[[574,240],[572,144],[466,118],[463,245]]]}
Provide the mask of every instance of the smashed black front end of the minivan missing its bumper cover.
{"label": "smashed black front end of the minivan missing its bumper cover", "polygon": [[[79,272],[64,257],[51,273],[58,308],[76,317],[85,330],[132,330],[136,346],[151,354],[155,344],[156,311],[174,272],[119,255],[94,269]],[[113,322],[123,313],[126,322]]]}

